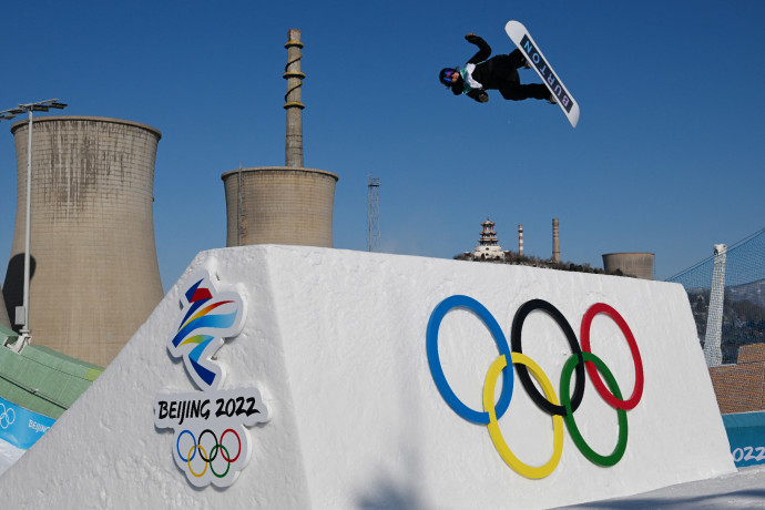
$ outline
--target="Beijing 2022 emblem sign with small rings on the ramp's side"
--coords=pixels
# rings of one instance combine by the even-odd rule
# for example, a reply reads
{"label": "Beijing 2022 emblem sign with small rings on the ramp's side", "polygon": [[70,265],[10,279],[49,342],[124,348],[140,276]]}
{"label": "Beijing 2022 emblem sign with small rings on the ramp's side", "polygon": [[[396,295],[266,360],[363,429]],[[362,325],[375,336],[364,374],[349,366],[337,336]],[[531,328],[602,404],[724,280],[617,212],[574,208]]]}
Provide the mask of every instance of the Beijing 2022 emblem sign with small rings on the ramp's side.
{"label": "Beijing 2022 emblem sign with small rings on the ramp's side", "polygon": [[206,271],[187,280],[176,327],[167,339],[173,358],[182,358],[186,375],[200,391],[160,394],[154,426],[173,429],[173,458],[197,488],[234,483],[252,453],[245,427],[268,421],[257,388],[222,389],[225,369],[213,359],[224,338],[236,337],[245,324],[242,296],[218,292]]}

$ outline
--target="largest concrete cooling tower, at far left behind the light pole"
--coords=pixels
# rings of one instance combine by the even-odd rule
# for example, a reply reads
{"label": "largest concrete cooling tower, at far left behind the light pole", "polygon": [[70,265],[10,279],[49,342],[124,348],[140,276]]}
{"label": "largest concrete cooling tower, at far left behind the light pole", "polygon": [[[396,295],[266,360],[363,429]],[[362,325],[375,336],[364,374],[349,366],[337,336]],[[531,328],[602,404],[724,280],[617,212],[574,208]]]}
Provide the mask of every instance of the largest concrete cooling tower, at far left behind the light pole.
{"label": "largest concrete cooling tower, at far left behind the light pole", "polygon": [[[23,303],[29,122],[16,139],[16,230],[3,295]],[[48,116],[32,124],[32,344],[106,366],[162,299],[153,223],[162,134],[136,122]]]}

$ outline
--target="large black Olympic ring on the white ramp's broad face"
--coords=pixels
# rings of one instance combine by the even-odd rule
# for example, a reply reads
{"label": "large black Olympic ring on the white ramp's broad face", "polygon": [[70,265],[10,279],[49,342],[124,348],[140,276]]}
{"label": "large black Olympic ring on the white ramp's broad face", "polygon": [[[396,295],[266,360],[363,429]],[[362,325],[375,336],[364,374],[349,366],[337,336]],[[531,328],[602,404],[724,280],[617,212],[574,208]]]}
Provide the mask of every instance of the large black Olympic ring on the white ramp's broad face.
{"label": "large black Olympic ring on the white ramp's broad face", "polygon": [[[512,329],[510,333],[511,350],[514,353],[523,353],[523,348],[521,346],[523,322],[526,322],[528,315],[536,309],[543,310],[553,318],[555,324],[558,324],[558,326],[560,326],[560,328],[563,330],[565,339],[569,341],[569,346],[571,347],[571,353],[577,355],[579,358],[579,363],[574,369],[577,374],[577,382],[574,382],[573,397],[571,398],[571,409],[573,412],[579,408],[579,405],[582,404],[582,398],[584,397],[584,359],[582,358],[582,348],[577,340],[577,334],[571,328],[569,322],[565,320],[563,314],[561,314],[558,308],[544,299],[531,299],[526,302],[523,306],[518,308],[518,312],[516,312],[516,317],[512,319]],[[547,397],[539,392],[537,386],[531,381],[531,376],[529,375],[529,369],[526,367],[526,365],[516,365],[516,371],[518,373],[518,378],[521,380],[521,385],[523,385],[523,389],[526,389],[526,392],[529,395],[529,397],[531,397],[538,407],[547,411],[549,415],[568,415],[565,407],[552,404],[547,399]]]}

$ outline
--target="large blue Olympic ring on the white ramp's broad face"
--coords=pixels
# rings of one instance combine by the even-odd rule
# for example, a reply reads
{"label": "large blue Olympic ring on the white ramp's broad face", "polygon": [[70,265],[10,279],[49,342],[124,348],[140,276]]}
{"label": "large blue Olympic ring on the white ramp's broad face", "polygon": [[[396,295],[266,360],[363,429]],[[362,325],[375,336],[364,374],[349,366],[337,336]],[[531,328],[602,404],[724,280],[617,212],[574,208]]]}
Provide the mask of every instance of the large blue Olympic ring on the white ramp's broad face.
{"label": "large blue Olympic ring on the white ramp's broad face", "polygon": [[[441,360],[438,357],[438,328],[441,326],[441,320],[446,314],[452,308],[463,308],[477,315],[478,318],[481,319],[481,322],[489,328],[491,336],[497,343],[497,348],[499,349],[500,356],[504,355],[506,359],[511,359],[512,357],[510,354],[510,347],[508,346],[508,340],[504,338],[502,328],[499,327],[494,316],[491,315],[491,313],[489,313],[483,305],[478,303],[472,297],[459,294],[447,297],[439,303],[436,309],[434,309],[432,314],[430,314],[426,346],[428,351],[428,365],[430,366],[430,373],[432,374],[432,378],[436,382],[438,391],[441,394],[441,397],[443,397],[443,400],[446,400],[449,407],[459,416],[475,424],[488,425],[490,421],[488,412],[479,412],[470,409],[457,397],[457,395],[455,395],[455,391],[446,380],[443,368],[441,367]],[[504,415],[504,411],[508,410],[510,399],[512,398],[513,373],[511,364],[508,364],[502,369],[502,391],[500,392],[499,400],[496,405],[498,418]]]}

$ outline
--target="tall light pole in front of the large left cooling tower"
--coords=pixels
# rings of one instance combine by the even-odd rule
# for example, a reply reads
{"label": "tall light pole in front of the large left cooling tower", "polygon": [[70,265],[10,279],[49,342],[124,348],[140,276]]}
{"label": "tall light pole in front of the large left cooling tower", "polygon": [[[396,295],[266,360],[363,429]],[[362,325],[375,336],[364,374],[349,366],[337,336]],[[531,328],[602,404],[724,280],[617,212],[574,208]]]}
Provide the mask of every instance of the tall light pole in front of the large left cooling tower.
{"label": "tall light pole in front of the large left cooling tower", "polygon": [[33,112],[47,112],[51,108],[63,110],[67,104],[60,103],[58,99],[49,99],[47,101],[38,101],[37,103],[19,104],[17,108],[10,110],[4,110],[0,112],[0,121],[13,119],[16,115],[21,113],[29,114],[29,133],[27,135],[27,222],[26,222],[26,236],[24,236],[24,302],[21,310],[22,317],[19,317],[19,309],[17,307],[16,313],[16,324],[20,325],[21,320],[21,338],[16,341],[14,349],[21,351],[21,349],[29,344],[31,339],[31,330],[29,329],[29,239],[31,232],[31,202],[32,202],[32,114]]}

